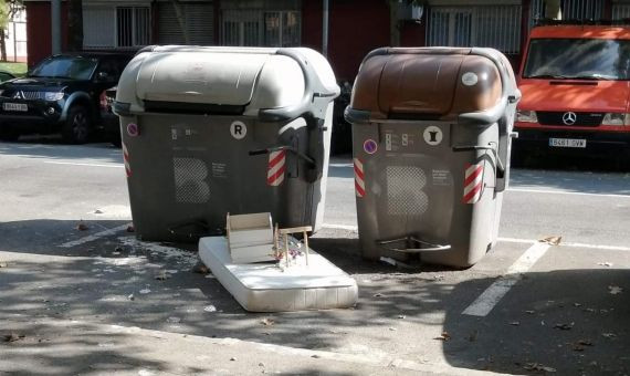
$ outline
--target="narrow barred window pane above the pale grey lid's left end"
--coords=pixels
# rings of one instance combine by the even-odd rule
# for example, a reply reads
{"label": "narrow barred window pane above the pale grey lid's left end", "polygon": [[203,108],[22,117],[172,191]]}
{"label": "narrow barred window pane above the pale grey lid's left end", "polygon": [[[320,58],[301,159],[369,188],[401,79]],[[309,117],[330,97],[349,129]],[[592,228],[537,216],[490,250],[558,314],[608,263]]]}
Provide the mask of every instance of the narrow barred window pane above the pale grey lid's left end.
{"label": "narrow barred window pane above the pale grey lid's left end", "polygon": [[148,7],[116,8],[116,46],[149,44],[150,12]]}

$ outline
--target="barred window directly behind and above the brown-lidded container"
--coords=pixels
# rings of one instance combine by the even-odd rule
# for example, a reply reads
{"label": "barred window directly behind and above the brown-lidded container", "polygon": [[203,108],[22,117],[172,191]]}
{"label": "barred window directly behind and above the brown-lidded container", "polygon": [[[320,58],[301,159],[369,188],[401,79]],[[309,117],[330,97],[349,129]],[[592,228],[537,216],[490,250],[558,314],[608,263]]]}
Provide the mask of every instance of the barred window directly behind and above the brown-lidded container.
{"label": "barred window directly behind and above the brown-lidded container", "polygon": [[427,45],[487,46],[507,54],[521,49],[521,6],[433,7]]}

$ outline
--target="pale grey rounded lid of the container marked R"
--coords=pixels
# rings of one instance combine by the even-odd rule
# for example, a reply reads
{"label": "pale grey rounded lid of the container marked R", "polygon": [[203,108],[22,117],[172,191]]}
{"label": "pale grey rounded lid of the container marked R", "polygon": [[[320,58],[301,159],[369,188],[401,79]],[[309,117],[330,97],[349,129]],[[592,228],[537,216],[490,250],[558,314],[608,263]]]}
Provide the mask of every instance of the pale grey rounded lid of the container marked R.
{"label": "pale grey rounded lid of the container marked R", "polygon": [[314,97],[329,102],[338,93],[330,65],[309,49],[166,45],[129,62],[116,102],[127,113],[231,107],[232,114],[281,118],[301,116]]}

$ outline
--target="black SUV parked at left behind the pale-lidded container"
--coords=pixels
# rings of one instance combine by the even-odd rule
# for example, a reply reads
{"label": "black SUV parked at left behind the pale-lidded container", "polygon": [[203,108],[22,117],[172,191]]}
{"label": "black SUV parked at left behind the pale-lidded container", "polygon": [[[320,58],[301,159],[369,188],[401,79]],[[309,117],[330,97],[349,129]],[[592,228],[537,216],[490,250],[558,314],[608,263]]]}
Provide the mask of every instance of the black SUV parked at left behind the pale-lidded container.
{"label": "black SUV parked at left behind the pale-lidded container", "polygon": [[105,91],[118,83],[133,58],[124,53],[75,53],[45,59],[23,79],[0,84],[0,139],[61,133],[83,144],[106,122]]}

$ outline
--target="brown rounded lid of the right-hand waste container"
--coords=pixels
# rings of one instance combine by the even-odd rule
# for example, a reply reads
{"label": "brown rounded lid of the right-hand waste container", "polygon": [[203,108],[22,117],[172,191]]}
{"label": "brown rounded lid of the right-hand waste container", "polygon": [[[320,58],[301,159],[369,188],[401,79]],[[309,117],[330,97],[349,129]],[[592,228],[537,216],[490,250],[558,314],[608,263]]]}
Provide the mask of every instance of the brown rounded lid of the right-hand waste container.
{"label": "brown rounded lid of the right-hand waste container", "polygon": [[494,50],[372,51],[359,69],[349,108],[370,119],[450,119],[490,111],[504,97],[503,80],[510,79],[502,72],[504,62],[494,59],[491,51]]}

